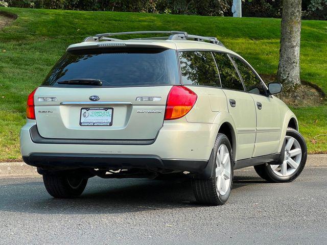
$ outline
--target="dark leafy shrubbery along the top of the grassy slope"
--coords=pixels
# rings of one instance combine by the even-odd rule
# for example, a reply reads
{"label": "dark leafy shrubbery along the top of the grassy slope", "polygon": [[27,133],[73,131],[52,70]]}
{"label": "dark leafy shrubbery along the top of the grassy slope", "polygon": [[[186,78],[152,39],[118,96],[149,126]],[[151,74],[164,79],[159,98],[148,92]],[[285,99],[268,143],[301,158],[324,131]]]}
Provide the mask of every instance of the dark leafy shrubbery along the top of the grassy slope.
{"label": "dark leafy shrubbery along the top of the grassy slope", "polygon": [[[0,6],[165,14],[231,15],[232,0],[0,0]],[[302,0],[303,18],[327,19],[327,0]],[[282,16],[282,0],[242,0],[243,16]]]}

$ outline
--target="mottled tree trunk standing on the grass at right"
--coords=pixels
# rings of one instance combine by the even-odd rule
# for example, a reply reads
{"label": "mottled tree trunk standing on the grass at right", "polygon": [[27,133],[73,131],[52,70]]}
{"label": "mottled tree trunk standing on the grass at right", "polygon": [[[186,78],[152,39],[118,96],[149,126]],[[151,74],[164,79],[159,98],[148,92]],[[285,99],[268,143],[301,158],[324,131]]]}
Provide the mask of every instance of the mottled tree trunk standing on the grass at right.
{"label": "mottled tree trunk standing on the grass at right", "polygon": [[277,82],[286,88],[300,84],[301,0],[283,0],[281,49]]}

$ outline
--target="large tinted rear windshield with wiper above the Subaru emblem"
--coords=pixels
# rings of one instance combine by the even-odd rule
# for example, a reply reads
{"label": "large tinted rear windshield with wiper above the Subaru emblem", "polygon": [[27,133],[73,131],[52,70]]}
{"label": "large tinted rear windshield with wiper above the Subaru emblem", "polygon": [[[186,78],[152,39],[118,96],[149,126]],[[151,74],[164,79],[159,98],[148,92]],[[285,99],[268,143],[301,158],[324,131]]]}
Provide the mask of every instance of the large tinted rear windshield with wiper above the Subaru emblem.
{"label": "large tinted rear windshield with wiper above the Subaru emblem", "polygon": [[175,50],[118,48],[67,52],[52,68],[42,86],[95,86],[58,84],[78,79],[99,79],[102,87],[180,83]]}

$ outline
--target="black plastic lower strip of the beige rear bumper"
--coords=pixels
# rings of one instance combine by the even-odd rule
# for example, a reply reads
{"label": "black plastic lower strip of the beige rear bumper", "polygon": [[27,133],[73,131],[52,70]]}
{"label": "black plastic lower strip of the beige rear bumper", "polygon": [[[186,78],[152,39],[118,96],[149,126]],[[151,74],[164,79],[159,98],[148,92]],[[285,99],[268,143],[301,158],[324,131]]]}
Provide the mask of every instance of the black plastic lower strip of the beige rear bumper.
{"label": "black plastic lower strip of the beige rear bumper", "polygon": [[44,169],[104,168],[104,169],[148,169],[155,172],[168,170],[202,173],[207,161],[165,159],[155,155],[118,154],[62,154],[33,153],[23,157],[25,163]]}

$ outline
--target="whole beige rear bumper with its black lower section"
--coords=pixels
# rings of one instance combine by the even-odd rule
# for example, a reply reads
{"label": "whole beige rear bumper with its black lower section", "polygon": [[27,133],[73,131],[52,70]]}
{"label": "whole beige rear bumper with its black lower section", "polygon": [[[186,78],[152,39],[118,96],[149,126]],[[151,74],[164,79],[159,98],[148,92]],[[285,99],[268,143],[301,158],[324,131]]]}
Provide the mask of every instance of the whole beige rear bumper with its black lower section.
{"label": "whole beige rear bumper with its black lower section", "polygon": [[20,131],[21,155],[33,166],[171,169],[194,173],[206,166],[219,126],[180,118],[164,122],[153,142],[131,144],[131,140],[35,140],[36,134],[31,135],[35,125],[35,120],[28,120]]}

